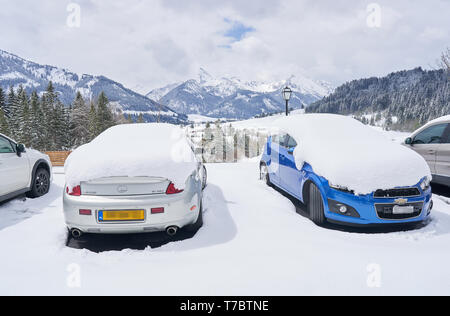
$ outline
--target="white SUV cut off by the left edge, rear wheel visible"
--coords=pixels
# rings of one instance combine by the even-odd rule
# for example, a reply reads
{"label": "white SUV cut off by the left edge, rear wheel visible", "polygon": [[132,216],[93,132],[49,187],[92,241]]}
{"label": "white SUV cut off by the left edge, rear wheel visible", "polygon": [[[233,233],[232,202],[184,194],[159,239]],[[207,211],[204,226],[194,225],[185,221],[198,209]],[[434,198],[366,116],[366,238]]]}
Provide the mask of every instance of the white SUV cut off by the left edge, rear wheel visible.
{"label": "white SUV cut off by the left edge, rear wheel visible", "polygon": [[47,194],[51,171],[47,155],[0,134],[0,202],[24,193],[31,198]]}

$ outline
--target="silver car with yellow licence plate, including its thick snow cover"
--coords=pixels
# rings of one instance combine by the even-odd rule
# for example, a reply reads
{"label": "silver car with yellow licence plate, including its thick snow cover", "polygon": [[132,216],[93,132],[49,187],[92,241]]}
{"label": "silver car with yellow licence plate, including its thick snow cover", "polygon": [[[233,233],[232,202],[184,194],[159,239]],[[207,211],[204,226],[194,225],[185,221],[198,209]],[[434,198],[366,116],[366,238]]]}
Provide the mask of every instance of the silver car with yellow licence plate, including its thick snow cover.
{"label": "silver car with yellow licence plate, including its thick snow cover", "polygon": [[206,169],[184,131],[170,124],[114,126],[76,149],[65,164],[63,205],[75,238],[197,230]]}

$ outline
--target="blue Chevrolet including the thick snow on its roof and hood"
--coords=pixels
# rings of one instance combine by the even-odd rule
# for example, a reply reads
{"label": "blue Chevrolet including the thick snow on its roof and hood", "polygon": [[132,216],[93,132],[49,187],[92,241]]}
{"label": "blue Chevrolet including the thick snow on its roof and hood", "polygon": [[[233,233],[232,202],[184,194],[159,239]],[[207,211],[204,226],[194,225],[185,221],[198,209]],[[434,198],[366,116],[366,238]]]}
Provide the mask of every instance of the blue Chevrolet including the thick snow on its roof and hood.
{"label": "blue Chevrolet including the thick snow on its roof and hood", "polygon": [[433,207],[425,160],[353,118],[306,114],[274,122],[261,179],[300,200],[317,224],[420,222]]}

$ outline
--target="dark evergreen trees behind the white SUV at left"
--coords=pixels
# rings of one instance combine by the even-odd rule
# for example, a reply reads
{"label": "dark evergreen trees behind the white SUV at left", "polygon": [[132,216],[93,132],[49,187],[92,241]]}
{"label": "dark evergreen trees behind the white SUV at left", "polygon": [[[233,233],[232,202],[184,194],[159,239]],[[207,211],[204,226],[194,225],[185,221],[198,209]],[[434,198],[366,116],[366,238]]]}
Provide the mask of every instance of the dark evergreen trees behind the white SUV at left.
{"label": "dark evergreen trees behind the white SUV at left", "polygon": [[77,92],[73,103],[65,106],[52,82],[42,95],[29,95],[23,86],[9,91],[0,87],[0,133],[40,151],[70,150],[116,124],[131,122],[108,104],[103,92],[90,101]]}

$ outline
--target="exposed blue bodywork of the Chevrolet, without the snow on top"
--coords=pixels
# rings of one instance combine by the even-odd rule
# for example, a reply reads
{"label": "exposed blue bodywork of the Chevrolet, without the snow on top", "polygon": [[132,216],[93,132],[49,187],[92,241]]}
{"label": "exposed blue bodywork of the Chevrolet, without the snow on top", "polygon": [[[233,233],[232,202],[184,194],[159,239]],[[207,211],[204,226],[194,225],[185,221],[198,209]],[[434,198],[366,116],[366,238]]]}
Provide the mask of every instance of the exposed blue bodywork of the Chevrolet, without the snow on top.
{"label": "exposed blue bodywork of the Chevrolet, without the snow on top", "polygon": [[[268,138],[260,163],[260,178],[306,205],[311,220],[322,225],[412,223],[427,219],[432,193],[427,177],[409,187],[394,187],[358,195],[346,187],[332,185],[305,161],[297,168],[295,137],[280,133]],[[332,159],[332,157],[330,157]]]}

